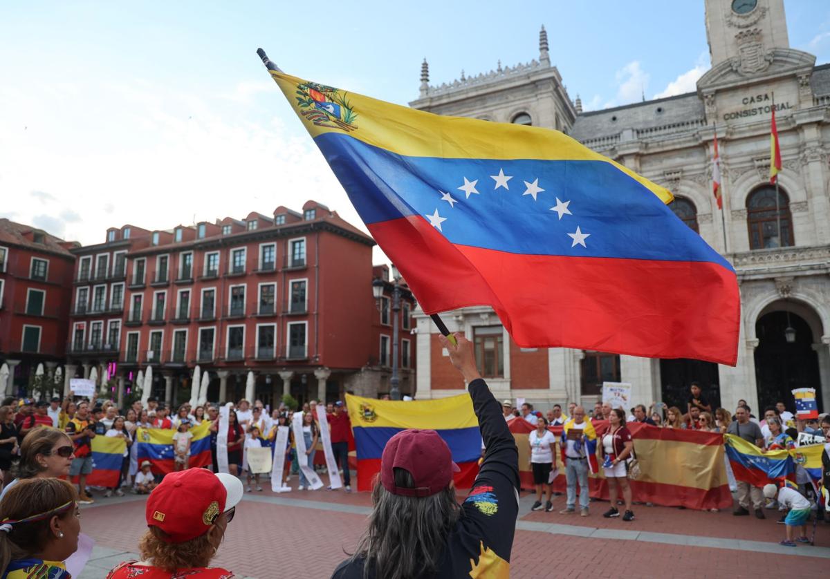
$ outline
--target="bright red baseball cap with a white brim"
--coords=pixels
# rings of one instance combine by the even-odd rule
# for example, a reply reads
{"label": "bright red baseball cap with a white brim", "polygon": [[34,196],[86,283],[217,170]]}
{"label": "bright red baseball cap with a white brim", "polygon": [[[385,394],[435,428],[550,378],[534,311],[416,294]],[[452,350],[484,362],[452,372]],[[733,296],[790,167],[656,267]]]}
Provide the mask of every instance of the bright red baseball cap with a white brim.
{"label": "bright red baseball cap with a white brim", "polygon": [[164,476],[147,499],[147,526],[167,533],[169,543],[197,538],[242,499],[242,482],[232,474],[188,469]]}

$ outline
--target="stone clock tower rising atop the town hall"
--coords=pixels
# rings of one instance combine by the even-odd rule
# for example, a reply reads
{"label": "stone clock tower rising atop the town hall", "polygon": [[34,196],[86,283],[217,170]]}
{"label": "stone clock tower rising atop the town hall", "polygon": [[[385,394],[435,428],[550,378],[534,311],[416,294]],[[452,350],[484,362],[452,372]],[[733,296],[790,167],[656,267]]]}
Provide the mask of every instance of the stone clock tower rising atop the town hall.
{"label": "stone clock tower rising atop the town hall", "polygon": [[774,48],[789,48],[784,0],[706,0],[706,37],[712,67],[764,71]]}

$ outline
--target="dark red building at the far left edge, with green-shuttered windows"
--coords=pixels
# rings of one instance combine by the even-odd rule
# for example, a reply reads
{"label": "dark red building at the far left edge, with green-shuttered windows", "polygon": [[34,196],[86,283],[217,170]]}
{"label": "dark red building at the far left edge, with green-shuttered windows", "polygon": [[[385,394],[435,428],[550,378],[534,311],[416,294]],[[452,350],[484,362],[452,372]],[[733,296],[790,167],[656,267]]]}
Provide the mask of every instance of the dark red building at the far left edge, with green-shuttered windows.
{"label": "dark red building at the far left edge, with green-shuttered windows", "polygon": [[0,363],[7,394],[25,389],[44,363],[51,376],[66,354],[66,334],[78,244],[36,227],[0,219]]}

